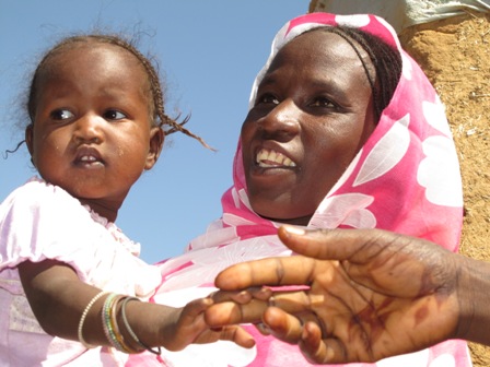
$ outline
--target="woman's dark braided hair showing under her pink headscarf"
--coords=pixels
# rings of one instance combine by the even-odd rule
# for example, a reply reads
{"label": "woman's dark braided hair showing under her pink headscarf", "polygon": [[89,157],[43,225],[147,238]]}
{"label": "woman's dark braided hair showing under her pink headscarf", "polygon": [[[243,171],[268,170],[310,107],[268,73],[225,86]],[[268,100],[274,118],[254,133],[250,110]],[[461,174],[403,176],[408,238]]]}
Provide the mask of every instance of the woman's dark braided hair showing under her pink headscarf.
{"label": "woman's dark braided hair showing under her pink headscarf", "polygon": [[[401,76],[401,55],[399,51],[380,37],[359,28],[324,26],[306,31],[305,33],[315,31],[335,33],[353,48],[368,76],[373,93],[374,114],[376,120],[378,120],[383,109],[389,104]],[[365,60],[361,57],[359,47],[370,57],[375,70],[374,75]]]}

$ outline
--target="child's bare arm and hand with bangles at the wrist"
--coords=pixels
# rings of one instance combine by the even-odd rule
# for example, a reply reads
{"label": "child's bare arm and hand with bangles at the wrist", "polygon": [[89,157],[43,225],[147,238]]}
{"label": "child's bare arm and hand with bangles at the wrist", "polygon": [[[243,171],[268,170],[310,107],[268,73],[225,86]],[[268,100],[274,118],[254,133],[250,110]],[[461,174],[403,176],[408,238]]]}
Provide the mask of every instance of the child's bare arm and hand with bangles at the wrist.
{"label": "child's bare arm and hand with bangles at the wrist", "polygon": [[[101,289],[81,282],[75,271],[67,264],[45,260],[38,263],[25,261],[19,265],[24,292],[42,328],[51,335],[79,340],[79,325],[82,315],[82,338],[89,345],[109,345],[102,313],[109,295],[95,298]],[[88,305],[93,300],[92,306]],[[238,345],[252,347],[254,341],[243,329],[226,327],[210,330],[203,319],[203,311],[212,304],[210,298],[196,299],[184,308],[173,308],[143,301],[127,301],[114,298],[114,324],[131,352],[142,352],[144,347],[164,346],[178,351],[190,343],[210,343],[230,340]],[[117,300],[119,299],[119,300]],[[105,306],[104,306],[105,305]],[[109,308],[113,310],[113,307]],[[105,309],[108,310],[107,307]],[[124,320],[124,316],[126,320]],[[133,335],[140,343],[135,341]],[[110,329],[110,328],[109,328]],[[117,338],[116,338],[117,339]]]}

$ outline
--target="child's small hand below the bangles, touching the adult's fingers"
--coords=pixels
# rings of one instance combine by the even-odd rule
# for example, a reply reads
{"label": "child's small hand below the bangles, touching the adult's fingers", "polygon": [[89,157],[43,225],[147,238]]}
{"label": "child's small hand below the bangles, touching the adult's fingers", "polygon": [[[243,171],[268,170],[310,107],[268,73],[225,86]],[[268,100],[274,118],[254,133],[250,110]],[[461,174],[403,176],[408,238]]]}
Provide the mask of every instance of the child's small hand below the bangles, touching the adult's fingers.
{"label": "child's small hand below the bangles, touching the adult's fingers", "polygon": [[176,309],[176,322],[172,331],[166,328],[163,334],[172,335],[162,344],[168,351],[179,351],[189,344],[213,343],[225,340],[240,346],[250,348],[255,341],[250,334],[238,325],[224,325],[211,329],[206,323],[205,311],[213,304],[211,298],[199,298],[188,303],[184,308]]}

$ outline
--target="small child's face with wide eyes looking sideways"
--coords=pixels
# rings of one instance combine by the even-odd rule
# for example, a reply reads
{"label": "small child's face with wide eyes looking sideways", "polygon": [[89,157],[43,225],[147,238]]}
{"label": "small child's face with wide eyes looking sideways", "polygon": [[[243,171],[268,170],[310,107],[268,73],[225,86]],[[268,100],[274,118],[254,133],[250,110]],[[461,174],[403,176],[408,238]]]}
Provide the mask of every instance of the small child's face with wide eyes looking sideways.
{"label": "small child's face with wide eyes looking sideways", "polygon": [[150,123],[148,90],[144,69],[120,47],[79,44],[54,56],[39,75],[34,126],[26,131],[40,176],[117,212],[163,142]]}

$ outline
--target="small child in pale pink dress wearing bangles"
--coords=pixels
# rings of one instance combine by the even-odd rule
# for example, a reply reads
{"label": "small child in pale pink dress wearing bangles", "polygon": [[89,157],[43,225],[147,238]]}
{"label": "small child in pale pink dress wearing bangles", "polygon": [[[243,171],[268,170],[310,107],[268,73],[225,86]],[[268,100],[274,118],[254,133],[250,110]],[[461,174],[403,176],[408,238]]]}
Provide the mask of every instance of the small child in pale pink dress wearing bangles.
{"label": "small child in pale pink dress wearing bangles", "polygon": [[[183,308],[150,303],[160,271],[114,224],[132,185],[151,169],[166,133],[198,139],[167,117],[158,73],[117,36],[69,37],[50,49],[31,84],[25,142],[40,175],[0,206],[0,365],[160,365],[189,343],[230,340],[211,331],[209,298]],[[184,121],[185,122],[185,121]],[[201,141],[202,142],[202,141]]]}

